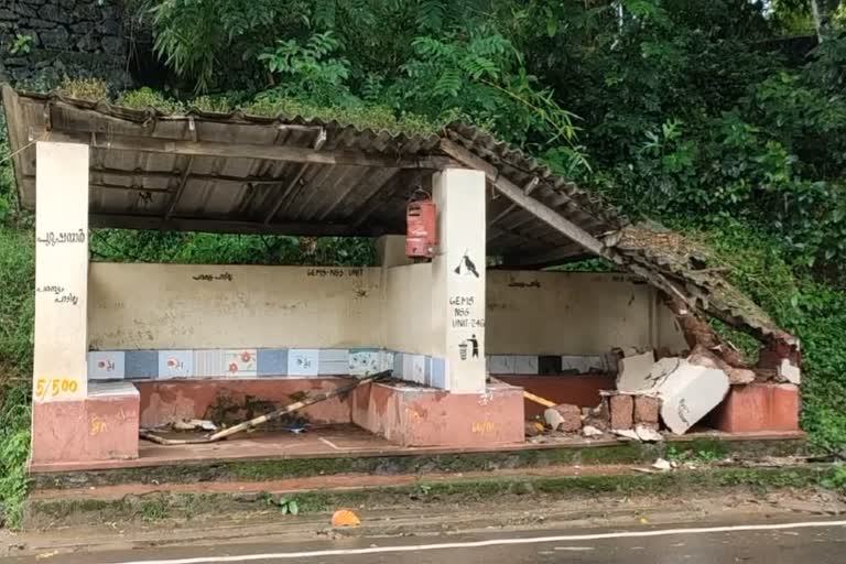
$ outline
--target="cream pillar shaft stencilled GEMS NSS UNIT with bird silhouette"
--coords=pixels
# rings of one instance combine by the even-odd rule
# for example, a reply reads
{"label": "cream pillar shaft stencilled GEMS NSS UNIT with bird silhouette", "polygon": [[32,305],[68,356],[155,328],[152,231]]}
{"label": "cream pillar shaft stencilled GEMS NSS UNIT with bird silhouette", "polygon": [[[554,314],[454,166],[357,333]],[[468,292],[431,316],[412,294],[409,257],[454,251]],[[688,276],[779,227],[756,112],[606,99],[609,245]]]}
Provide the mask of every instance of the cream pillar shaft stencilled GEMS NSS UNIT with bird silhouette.
{"label": "cream pillar shaft stencilled GEMS NSS UNIT with bird silhouette", "polygon": [[438,247],[432,261],[435,357],[446,389],[485,391],[485,174],[446,169],[433,177]]}

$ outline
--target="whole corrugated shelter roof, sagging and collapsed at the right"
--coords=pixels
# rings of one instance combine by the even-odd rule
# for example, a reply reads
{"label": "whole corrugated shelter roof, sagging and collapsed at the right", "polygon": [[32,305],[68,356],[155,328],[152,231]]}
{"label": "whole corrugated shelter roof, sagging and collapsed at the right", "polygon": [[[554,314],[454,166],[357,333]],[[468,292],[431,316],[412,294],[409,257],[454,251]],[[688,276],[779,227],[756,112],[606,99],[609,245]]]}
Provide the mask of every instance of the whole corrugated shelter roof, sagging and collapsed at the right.
{"label": "whole corrugated shelter roof, sagging and collapsed at the right", "polygon": [[[302,236],[404,234],[412,194],[446,166],[482,171],[488,254],[543,268],[589,256],[761,340],[795,347],[702,249],[634,227],[596,194],[462,123],[440,134],[299,116],[166,115],[3,87],[21,205],[35,207],[34,142],[91,147],[90,225]],[[706,264],[703,267],[703,264]]]}

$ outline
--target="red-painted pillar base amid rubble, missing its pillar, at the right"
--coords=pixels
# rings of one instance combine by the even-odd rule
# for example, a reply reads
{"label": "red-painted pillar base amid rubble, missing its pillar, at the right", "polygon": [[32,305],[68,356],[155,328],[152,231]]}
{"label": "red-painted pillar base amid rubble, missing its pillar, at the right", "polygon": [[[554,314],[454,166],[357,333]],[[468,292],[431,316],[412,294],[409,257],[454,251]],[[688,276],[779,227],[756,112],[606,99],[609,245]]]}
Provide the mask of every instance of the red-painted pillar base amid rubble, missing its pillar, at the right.
{"label": "red-painted pillar base amid rubble, missing its pillar, at the right", "polygon": [[733,386],[711,423],[726,433],[799,431],[799,387],[792,383]]}

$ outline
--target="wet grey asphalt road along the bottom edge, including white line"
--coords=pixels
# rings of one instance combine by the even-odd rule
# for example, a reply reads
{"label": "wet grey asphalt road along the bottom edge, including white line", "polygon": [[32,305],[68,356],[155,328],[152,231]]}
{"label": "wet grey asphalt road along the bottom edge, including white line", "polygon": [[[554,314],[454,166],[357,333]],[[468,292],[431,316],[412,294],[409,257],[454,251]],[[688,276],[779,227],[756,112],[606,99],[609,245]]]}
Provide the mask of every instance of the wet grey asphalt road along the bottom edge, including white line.
{"label": "wet grey asphalt road along the bottom edge, including white line", "polygon": [[[0,558],[1,560],[1,558]],[[543,530],[306,543],[209,544],[96,554],[41,554],[9,563],[61,564],[843,564],[846,521],[684,524],[637,530]]]}

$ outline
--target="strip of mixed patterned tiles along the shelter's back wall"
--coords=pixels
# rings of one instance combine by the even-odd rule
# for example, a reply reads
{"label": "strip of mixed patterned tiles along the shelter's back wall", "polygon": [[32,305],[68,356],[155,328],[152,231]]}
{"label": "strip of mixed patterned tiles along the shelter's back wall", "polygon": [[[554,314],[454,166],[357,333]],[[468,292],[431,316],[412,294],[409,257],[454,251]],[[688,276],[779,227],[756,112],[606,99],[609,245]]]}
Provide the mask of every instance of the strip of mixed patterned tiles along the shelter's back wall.
{"label": "strip of mixed patterned tiles along the shelter's back wall", "polygon": [[[494,355],[491,375],[615,372],[609,356]],[[393,369],[403,380],[446,388],[443,358],[376,348],[246,348],[194,350],[93,350],[89,380],[169,380],[174,378],[276,378],[364,376]]]}

